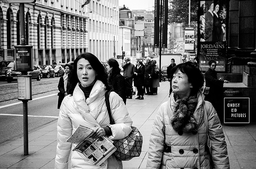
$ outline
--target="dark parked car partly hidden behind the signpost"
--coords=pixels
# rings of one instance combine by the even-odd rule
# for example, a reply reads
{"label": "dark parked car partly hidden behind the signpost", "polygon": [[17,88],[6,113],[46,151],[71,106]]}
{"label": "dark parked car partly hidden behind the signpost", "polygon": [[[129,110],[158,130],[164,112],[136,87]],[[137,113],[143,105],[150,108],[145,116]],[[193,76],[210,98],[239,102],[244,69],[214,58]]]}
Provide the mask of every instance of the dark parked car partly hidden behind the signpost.
{"label": "dark parked car partly hidden behind the signpost", "polygon": [[[28,71],[27,74],[32,75],[31,78],[36,79],[37,81],[41,80],[41,78],[42,78],[41,71],[35,65],[33,65],[33,71]],[[18,75],[21,75],[20,71],[7,70],[7,73],[6,73],[7,82],[11,83],[12,81],[17,80]]]}

